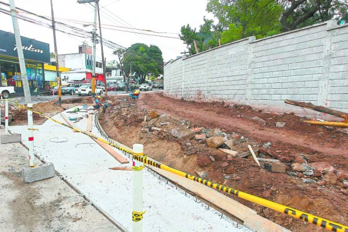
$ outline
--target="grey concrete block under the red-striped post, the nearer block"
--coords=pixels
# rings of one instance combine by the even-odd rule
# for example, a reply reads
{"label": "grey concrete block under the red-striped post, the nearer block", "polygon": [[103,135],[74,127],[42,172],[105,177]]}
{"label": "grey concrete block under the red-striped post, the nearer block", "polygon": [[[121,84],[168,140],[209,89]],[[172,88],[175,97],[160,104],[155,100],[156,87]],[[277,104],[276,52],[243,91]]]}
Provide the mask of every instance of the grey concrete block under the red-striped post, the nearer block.
{"label": "grey concrete block under the red-striped post, the nearer block", "polygon": [[40,166],[34,168],[23,168],[23,180],[24,183],[31,183],[34,181],[41,181],[42,179],[51,178],[54,176],[53,163],[43,163]]}

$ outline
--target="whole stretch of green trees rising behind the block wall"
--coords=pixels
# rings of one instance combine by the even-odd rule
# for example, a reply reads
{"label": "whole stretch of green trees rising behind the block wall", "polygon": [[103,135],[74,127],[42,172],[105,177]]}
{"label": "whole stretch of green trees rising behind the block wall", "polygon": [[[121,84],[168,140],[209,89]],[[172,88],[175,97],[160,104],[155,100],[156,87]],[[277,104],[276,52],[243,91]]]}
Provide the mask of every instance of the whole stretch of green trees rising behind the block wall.
{"label": "whole stretch of green trees rising behind the block wall", "polygon": [[324,22],[332,18],[348,21],[348,0],[208,0],[207,11],[218,22],[203,18],[199,31],[187,24],[181,27],[180,38],[195,54],[199,51],[245,37],[268,37]]}

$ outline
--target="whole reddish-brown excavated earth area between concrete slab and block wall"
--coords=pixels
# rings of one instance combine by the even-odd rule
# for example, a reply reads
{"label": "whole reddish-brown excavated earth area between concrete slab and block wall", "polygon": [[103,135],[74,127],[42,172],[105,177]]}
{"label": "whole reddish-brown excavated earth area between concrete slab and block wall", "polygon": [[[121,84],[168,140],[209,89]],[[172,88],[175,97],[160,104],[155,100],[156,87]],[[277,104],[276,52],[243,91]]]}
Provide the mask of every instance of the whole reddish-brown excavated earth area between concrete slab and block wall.
{"label": "whole reddish-brown excavated earth area between concrete slab and block wall", "polygon": [[[113,102],[100,118],[104,130],[113,139],[127,146],[142,143],[149,157],[192,175],[203,171],[212,181],[348,224],[347,136],[341,130],[309,126],[292,114],[262,113],[249,106],[178,101],[160,94],[143,96],[137,102],[116,97]],[[160,115],[158,118],[151,119],[152,109]],[[253,121],[255,116],[266,125]],[[277,121],[286,122],[285,127],[275,127]],[[192,133],[187,134],[188,130]],[[226,137],[229,148],[240,157],[208,147],[206,139],[196,139],[196,135],[203,134],[202,138]],[[260,158],[281,160],[286,173],[259,167],[247,145]],[[337,169],[334,174],[337,182],[325,182],[322,173],[309,166],[320,161]],[[293,163],[302,163],[304,171],[292,170]],[[292,231],[322,231],[285,214],[233,195],[229,197]]]}

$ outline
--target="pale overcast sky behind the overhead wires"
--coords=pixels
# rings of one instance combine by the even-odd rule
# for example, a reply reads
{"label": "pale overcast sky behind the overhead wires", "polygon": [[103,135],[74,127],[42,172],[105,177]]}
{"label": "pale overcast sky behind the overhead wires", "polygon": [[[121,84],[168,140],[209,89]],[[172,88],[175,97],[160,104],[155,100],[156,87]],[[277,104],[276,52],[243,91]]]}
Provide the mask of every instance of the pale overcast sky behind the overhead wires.
{"label": "pale overcast sky behind the overhead wires", "polygon": [[[0,1],[8,3],[8,0]],[[130,24],[139,29],[179,34],[181,26],[185,24],[190,24],[192,28],[197,27],[198,29],[199,25],[203,23],[203,16],[213,18],[213,16],[205,10],[207,0],[100,0],[99,3],[102,25],[108,24],[130,27]],[[51,15],[49,0],[15,0],[15,4],[16,7],[26,9],[38,15],[48,17]],[[93,30],[93,26],[83,27],[82,24],[84,23],[72,23],[71,21],[64,20],[73,19],[77,21],[93,22],[94,12],[91,5],[79,4],[77,0],[53,0],[53,5],[56,21],[71,24],[87,31]],[[103,6],[105,6],[105,8],[103,8]],[[2,4],[0,4],[0,8],[9,9],[9,7]],[[114,15],[105,9],[108,9]],[[25,16],[29,15],[25,14]],[[35,19],[42,20],[37,17]],[[121,21],[121,19],[123,21]],[[13,25],[9,15],[0,13],[0,22],[0,30],[13,32]],[[22,36],[49,43],[50,51],[54,51],[52,29],[22,20],[19,20],[18,23]],[[114,28],[130,31],[129,29]],[[144,31],[136,32],[149,33]],[[138,42],[145,43],[148,46],[150,44],[157,45],[162,50],[164,61],[175,59],[177,56],[181,55],[180,52],[186,49],[186,46],[180,39],[161,38],[108,29],[102,29],[102,33],[103,38],[124,47],[129,47],[133,43]],[[177,34],[159,35],[178,38]],[[58,54],[77,53],[78,45],[81,45],[84,40],[86,39],[57,32]],[[88,42],[92,45],[90,40],[88,40]],[[117,59],[116,56],[112,55],[112,49],[106,47],[104,50],[106,61]],[[101,56],[100,54],[100,45],[97,45],[97,56]]]}

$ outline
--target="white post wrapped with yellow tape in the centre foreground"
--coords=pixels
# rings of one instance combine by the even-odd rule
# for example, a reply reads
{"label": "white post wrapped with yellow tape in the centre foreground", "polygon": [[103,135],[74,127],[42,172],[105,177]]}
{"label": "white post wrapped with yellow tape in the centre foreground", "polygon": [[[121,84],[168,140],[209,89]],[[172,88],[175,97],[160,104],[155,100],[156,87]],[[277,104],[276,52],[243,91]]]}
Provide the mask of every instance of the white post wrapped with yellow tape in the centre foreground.
{"label": "white post wrapped with yellow tape in the centre foreground", "polygon": [[[144,145],[133,144],[135,155],[143,155]],[[133,159],[133,232],[143,230],[143,163]]]}

